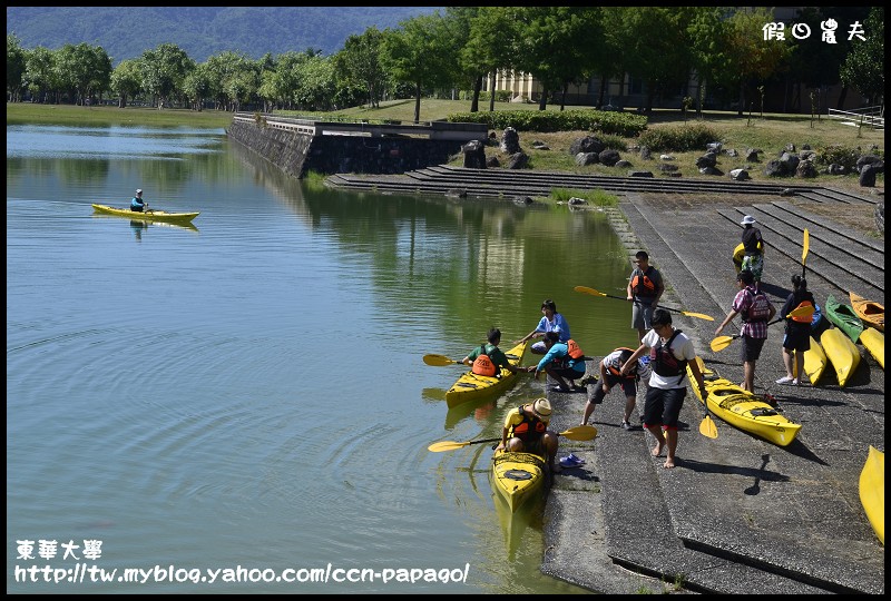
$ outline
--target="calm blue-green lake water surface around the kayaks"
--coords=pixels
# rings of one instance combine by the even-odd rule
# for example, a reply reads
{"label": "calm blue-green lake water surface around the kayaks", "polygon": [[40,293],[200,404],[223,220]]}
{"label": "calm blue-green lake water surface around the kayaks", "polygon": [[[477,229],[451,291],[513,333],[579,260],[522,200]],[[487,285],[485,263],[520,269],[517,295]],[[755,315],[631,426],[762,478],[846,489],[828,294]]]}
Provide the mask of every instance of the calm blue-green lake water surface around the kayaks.
{"label": "calm blue-green lake water surface around the kayaks", "polygon": [[[137,187],[200,211],[195,227],[94,215]],[[427,451],[500,435],[542,382],[448,411],[460,371],[421,357],[461,358],[492,325],[517,339],[548,297],[587,354],[634,344],[629,305],[572,292],[621,294],[629,270],[594,211],[313,189],[222,130],[8,126],[7,591],[584,592],[539,572],[541,505],[503,520],[488,445]],[[70,541],[80,561],[62,559]],[[78,563],[164,581],[14,575]],[[469,570],[414,584],[166,571],[329,563]]]}

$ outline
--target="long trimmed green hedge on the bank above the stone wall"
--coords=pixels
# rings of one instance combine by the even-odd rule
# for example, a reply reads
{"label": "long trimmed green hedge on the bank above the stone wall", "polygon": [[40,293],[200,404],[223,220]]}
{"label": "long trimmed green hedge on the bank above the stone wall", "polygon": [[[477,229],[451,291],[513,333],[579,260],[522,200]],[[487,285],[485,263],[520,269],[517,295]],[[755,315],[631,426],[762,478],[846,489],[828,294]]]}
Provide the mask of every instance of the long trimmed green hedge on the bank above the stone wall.
{"label": "long trimmed green hedge on the bank above the stone wall", "polygon": [[562,111],[496,110],[492,112],[457,112],[450,122],[486,124],[489,129],[512,127],[519,131],[597,131],[634,138],[647,127],[647,118],[634,112],[613,112],[595,109]]}

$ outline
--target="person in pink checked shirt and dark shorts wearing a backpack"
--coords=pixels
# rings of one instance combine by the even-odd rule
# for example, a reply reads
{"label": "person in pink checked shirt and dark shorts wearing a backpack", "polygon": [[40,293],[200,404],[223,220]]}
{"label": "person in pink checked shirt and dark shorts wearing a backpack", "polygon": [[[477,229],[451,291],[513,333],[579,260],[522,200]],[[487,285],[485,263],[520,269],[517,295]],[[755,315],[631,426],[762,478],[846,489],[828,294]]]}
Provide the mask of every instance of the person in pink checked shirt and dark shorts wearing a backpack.
{"label": "person in pink checked shirt and dark shorts wearing a backpack", "polygon": [[715,337],[721,336],[721,332],[734,317],[737,315],[743,317],[743,327],[740,331],[743,341],[740,349],[743,359],[742,388],[754,393],[755,362],[761,356],[761,349],[767,339],[767,322],[776,315],[776,307],[767,295],[757,288],[755,276],[748,269],[743,269],[736,275],[736,284],[740,286],[740,292],[733,298],[733,308],[715,329]]}

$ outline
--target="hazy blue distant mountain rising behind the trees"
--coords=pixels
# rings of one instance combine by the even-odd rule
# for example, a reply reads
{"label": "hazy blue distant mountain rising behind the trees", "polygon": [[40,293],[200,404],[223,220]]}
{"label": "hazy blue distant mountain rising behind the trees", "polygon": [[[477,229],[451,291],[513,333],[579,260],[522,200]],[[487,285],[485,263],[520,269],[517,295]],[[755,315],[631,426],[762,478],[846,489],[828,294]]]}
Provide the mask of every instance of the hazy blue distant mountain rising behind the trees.
{"label": "hazy blue distant mountain rising behind the trees", "polygon": [[23,48],[66,43],[101,46],[112,65],[161,43],[175,43],[196,62],[226,50],[258,59],[307,48],[324,56],[347,37],[399,27],[443,7],[7,7],[7,33]]}

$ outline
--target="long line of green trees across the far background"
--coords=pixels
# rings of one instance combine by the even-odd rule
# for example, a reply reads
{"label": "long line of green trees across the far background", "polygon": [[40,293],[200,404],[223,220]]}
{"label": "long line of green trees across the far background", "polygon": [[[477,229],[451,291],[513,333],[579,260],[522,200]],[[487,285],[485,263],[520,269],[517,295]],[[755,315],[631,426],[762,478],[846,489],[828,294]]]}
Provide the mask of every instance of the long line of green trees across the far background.
{"label": "long line of green trees across the far background", "polygon": [[[197,63],[175,43],[161,43],[114,68],[99,46],[25,49],[8,33],[7,99],[27,95],[36,102],[87,105],[110,95],[119,107],[146,101],[158,108],[251,106],[270,112],[413,98],[418,121],[422,97],[448,98],[453,90],[470,100],[471,112],[487,97],[493,110],[495,76],[512,71],[538,81],[541,110],[548,102],[562,109],[569,87],[591,78],[601,81],[600,108],[603,83],[624,85],[626,73],[644,82],[646,111],[658,98],[686,89],[692,77],[698,81],[697,110],[708,95],[722,104],[735,99],[742,115],[765,85],[841,82],[870,104],[883,101],[883,8],[803,8],[794,23],[809,27],[807,38],[792,36],[793,23],[786,22],[784,39],[766,40],[764,26],[774,21],[767,8],[450,7],[398,28],[371,27],[331,56],[307,48],[254,60],[224,51]],[[832,23],[835,43],[821,37]],[[854,23],[864,39],[849,39]],[[620,87],[619,96],[625,93]]]}

